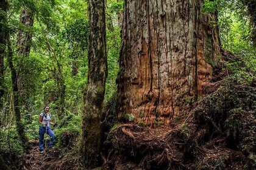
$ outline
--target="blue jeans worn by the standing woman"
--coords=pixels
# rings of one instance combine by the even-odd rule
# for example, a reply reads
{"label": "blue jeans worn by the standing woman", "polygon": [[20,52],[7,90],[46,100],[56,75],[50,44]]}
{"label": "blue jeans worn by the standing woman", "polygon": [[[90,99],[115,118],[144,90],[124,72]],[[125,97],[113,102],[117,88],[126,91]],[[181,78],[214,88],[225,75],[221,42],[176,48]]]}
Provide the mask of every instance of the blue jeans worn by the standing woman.
{"label": "blue jeans worn by the standing woman", "polygon": [[48,134],[51,137],[50,143],[49,143],[49,148],[54,146],[54,132],[52,132],[51,127],[39,127],[39,151],[43,151],[43,139],[44,139],[44,134]]}

